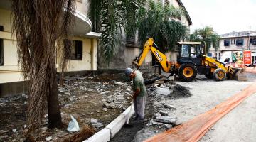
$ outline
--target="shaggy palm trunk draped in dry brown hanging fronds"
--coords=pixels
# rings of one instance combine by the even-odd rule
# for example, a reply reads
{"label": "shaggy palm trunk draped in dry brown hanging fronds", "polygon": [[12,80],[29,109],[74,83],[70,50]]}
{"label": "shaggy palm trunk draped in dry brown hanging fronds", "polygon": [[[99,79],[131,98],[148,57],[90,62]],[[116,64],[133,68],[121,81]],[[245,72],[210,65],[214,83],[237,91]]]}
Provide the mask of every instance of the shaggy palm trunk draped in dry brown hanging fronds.
{"label": "shaggy palm trunk draped in dry brown hanging fronds", "polygon": [[[29,82],[28,132],[41,125],[48,108],[49,128],[62,126],[55,68],[56,51],[60,60],[70,54],[73,0],[12,1],[13,32],[16,33],[18,63]],[[63,11],[64,10],[64,11]],[[55,43],[57,47],[55,46]]]}

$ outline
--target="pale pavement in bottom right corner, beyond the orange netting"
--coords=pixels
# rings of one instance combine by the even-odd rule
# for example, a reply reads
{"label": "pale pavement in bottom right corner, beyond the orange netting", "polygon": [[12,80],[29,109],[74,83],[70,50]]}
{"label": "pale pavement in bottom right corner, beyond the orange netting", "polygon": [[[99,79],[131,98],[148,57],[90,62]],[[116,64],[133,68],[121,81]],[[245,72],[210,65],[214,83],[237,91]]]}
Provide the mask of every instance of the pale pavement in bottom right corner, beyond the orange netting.
{"label": "pale pavement in bottom right corner, beyond the orange netting", "polygon": [[200,142],[256,141],[256,94],[220,119]]}

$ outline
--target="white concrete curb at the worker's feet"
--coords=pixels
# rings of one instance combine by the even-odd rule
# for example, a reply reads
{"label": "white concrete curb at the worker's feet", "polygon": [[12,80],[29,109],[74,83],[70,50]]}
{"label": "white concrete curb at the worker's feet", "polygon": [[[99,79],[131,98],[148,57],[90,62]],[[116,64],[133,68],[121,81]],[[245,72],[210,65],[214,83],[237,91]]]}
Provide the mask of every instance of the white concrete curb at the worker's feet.
{"label": "white concrete curb at the worker's feet", "polygon": [[[120,114],[116,119],[114,119],[110,124],[108,124],[104,129],[98,131],[90,138],[83,142],[107,142],[117,134],[122,126],[127,122],[128,117],[130,118],[134,114],[134,107],[129,106],[122,114]],[[129,113],[131,111],[131,113]]]}

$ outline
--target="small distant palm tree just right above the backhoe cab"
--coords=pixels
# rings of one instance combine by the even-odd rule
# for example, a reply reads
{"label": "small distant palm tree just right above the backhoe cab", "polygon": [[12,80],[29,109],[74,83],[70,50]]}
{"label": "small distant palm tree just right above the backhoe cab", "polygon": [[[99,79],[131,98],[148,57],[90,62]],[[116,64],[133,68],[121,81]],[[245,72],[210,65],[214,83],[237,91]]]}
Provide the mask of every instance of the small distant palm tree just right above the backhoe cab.
{"label": "small distant palm tree just right above the backhoe cab", "polygon": [[190,35],[191,41],[199,41],[206,43],[206,52],[210,49],[210,45],[213,44],[213,48],[217,50],[219,46],[220,36],[218,33],[213,32],[213,28],[206,26],[196,29],[193,34]]}

